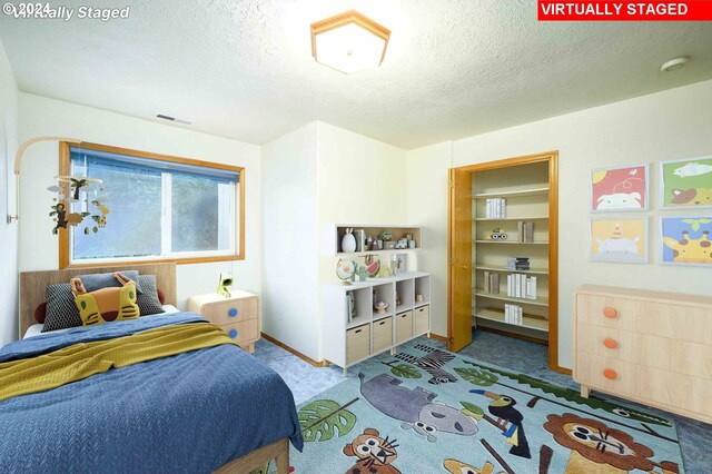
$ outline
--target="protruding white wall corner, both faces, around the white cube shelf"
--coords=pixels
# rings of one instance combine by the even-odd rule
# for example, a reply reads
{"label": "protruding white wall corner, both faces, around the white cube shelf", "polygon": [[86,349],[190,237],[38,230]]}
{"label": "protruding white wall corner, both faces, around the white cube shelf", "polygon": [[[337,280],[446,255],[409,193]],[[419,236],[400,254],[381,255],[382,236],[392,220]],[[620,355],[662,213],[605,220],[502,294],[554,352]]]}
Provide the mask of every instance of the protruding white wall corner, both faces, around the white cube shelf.
{"label": "protruding white wall corner, both faces, around the white cube shelf", "polygon": [[316,121],[263,147],[263,328],[319,361],[323,226],[407,223],[406,154]]}

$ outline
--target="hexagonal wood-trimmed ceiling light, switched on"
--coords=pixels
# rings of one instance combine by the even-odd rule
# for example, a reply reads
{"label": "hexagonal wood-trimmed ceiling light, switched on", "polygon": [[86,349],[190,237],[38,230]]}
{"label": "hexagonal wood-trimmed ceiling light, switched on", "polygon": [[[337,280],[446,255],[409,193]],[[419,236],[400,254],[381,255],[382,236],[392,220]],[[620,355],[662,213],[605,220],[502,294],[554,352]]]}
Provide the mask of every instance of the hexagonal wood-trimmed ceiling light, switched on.
{"label": "hexagonal wood-trimmed ceiling light, switched on", "polygon": [[312,56],[349,75],[380,66],[389,38],[389,29],[350,10],[312,23]]}

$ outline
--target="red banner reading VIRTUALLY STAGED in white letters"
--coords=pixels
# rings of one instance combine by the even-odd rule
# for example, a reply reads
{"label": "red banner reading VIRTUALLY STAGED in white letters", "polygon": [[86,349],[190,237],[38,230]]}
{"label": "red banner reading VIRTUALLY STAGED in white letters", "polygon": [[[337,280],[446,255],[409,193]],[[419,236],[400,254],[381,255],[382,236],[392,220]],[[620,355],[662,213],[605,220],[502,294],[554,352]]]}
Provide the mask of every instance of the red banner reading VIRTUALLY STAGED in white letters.
{"label": "red banner reading VIRTUALLY STAGED in white letters", "polygon": [[540,21],[711,21],[712,0],[538,0]]}

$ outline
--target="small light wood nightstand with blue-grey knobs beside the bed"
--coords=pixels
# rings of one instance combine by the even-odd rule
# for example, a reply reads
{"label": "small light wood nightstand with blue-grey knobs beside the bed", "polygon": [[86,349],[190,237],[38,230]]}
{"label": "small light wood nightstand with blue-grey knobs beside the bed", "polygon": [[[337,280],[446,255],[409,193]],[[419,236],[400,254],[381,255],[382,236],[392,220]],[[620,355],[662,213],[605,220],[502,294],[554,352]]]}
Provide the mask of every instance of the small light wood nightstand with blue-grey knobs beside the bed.
{"label": "small light wood nightstand with blue-grey knobs beside the bed", "polygon": [[254,353],[261,330],[259,300],[240,289],[231,294],[229,298],[215,293],[194,295],[188,298],[188,310],[220,326],[240,347]]}

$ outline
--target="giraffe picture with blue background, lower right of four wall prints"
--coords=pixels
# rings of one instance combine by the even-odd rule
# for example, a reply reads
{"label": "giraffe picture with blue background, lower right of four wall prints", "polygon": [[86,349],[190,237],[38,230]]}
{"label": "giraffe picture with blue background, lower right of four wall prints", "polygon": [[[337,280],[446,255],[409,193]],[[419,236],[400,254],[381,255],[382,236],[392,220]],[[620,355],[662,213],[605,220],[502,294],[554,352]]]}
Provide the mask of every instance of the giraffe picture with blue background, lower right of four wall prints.
{"label": "giraffe picture with blue background, lower right of four wall prints", "polygon": [[712,216],[662,217],[663,264],[712,267]]}

